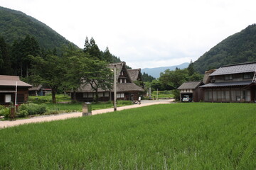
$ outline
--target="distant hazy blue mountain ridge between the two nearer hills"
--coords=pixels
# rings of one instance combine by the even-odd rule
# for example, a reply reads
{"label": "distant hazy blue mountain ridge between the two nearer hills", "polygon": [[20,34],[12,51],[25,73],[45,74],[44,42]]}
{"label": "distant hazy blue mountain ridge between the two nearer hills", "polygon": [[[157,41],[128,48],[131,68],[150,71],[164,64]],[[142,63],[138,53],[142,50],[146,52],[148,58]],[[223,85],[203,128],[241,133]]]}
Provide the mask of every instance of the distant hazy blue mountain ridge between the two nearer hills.
{"label": "distant hazy blue mountain ridge between the two nearer hills", "polygon": [[160,73],[164,72],[166,69],[170,69],[170,70],[175,70],[176,68],[178,69],[185,69],[188,67],[189,62],[184,62],[182,64],[179,65],[175,65],[175,66],[170,66],[170,67],[156,67],[156,68],[145,68],[142,69],[142,73],[145,72],[146,74],[151,75],[154,78],[159,78],[160,77]]}

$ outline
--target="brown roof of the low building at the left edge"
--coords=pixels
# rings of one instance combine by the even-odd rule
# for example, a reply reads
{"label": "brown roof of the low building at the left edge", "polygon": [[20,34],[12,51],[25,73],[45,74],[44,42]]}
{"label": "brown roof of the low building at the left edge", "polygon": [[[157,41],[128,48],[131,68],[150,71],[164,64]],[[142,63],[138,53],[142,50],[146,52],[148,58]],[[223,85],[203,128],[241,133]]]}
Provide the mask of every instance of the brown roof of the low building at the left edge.
{"label": "brown roof of the low building at the left edge", "polygon": [[27,86],[31,87],[30,84],[27,84],[19,79],[19,77],[16,76],[3,76],[0,75],[0,86]]}

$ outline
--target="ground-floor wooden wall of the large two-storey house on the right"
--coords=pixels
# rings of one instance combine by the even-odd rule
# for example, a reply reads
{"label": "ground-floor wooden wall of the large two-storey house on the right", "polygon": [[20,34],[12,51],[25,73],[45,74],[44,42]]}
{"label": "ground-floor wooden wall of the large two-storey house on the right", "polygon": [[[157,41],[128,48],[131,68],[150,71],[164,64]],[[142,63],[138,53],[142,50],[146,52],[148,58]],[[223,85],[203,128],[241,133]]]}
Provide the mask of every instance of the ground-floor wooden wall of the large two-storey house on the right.
{"label": "ground-floor wooden wall of the large two-storey house on the right", "polygon": [[251,102],[252,90],[243,88],[204,89],[206,102]]}

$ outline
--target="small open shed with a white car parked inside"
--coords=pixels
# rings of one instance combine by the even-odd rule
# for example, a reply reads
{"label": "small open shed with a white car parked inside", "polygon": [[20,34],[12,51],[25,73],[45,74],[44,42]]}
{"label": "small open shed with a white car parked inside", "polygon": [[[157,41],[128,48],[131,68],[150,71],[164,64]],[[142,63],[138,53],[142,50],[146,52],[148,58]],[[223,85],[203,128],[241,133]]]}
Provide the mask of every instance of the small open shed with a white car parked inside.
{"label": "small open shed with a white car parked inside", "polygon": [[178,87],[180,91],[180,101],[182,101],[184,95],[188,95],[194,102],[203,101],[203,90],[198,88],[201,85],[203,85],[202,81],[188,81],[181,84],[181,86]]}

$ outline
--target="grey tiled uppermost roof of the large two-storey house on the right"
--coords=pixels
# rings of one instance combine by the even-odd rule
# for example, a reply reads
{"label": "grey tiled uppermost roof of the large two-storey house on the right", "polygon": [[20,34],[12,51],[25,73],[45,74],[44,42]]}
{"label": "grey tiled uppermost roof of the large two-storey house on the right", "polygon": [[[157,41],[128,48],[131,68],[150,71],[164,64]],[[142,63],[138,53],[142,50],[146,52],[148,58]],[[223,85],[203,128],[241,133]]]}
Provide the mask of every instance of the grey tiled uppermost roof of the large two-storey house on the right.
{"label": "grey tiled uppermost roof of the large two-storey house on the right", "polygon": [[215,72],[210,74],[210,76],[255,72],[255,70],[256,70],[256,62],[247,62],[242,64],[233,64],[233,65],[220,67]]}

